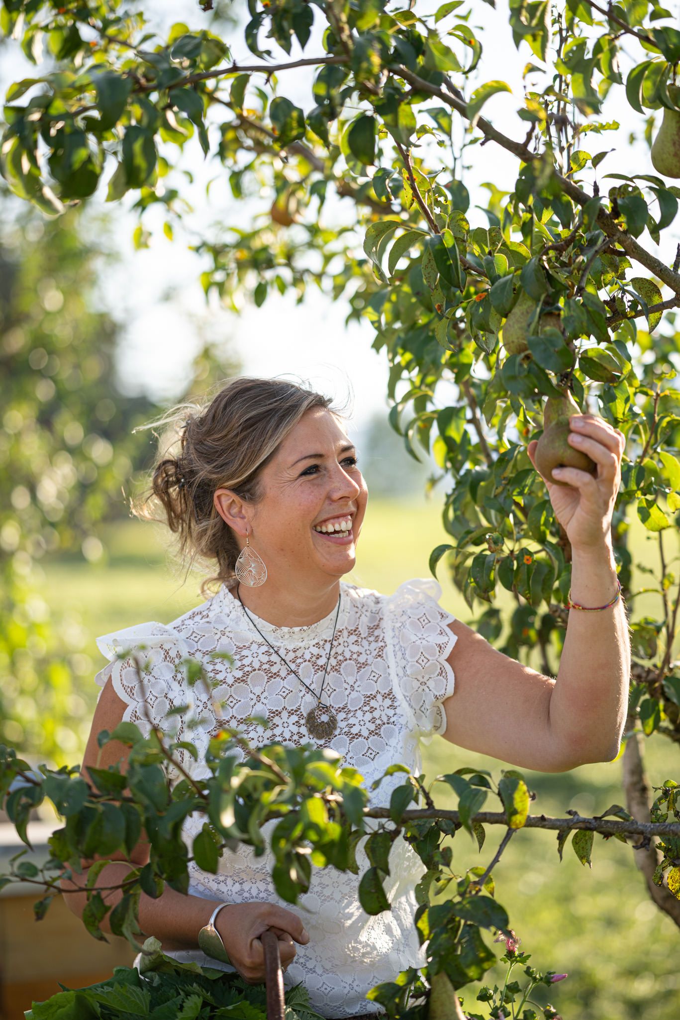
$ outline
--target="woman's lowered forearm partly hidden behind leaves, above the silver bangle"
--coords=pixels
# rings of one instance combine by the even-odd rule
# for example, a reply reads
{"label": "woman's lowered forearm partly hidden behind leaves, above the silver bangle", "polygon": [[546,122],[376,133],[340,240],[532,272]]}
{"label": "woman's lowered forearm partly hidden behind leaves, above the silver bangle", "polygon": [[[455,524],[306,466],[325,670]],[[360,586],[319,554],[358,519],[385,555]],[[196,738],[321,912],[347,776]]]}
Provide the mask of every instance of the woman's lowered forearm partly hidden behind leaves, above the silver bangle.
{"label": "woman's lowered forearm partly hidden behind leaves, above the silver bangle", "polygon": [[[111,909],[120,901],[123,894],[120,889],[105,888],[105,886],[119,885],[134,867],[135,865],[126,864],[124,861],[113,861],[102,868],[97,876],[94,887],[101,888],[101,897]],[[84,869],[83,873],[75,875],[74,878],[75,882],[62,879],[61,888],[69,910],[77,917],[82,917],[87,904],[84,887],[88,880],[88,871]],[[165,886],[157,900],[142,892],[140,927],[145,935],[155,935],[159,938],[164,950],[197,949],[199,931],[208,923],[210,915],[220,902],[204,900],[197,896],[185,896],[169,885]],[[228,907],[224,909],[228,910]],[[102,931],[111,931],[110,917],[111,911],[101,921]]]}

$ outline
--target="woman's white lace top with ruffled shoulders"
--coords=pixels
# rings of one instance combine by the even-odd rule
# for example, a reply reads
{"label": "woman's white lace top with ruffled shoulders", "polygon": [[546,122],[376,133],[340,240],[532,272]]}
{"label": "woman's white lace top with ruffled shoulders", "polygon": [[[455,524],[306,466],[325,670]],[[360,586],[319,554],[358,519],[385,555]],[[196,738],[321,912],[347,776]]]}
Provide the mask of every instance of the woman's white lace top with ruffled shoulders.
{"label": "woman's white lace top with ruffled shoulders", "polygon": [[[328,747],[344,756],[345,764],[361,772],[366,788],[396,762],[418,772],[420,742],[427,744],[446,729],[441,702],[454,691],[454,671],[447,658],[457,639],[448,626],[455,617],[438,605],[440,596],[439,584],[431,578],[405,581],[390,596],[341,581],[337,627],[322,700],[332,706],[337,717],[337,729]],[[321,686],[335,612],[334,608],[311,626],[276,627],[249,610],[262,633],[315,692]],[[147,646],[142,654],[151,662],[150,672],[143,673],[146,690],[140,690],[132,661],[115,658],[116,653],[137,643]],[[182,759],[182,765],[196,777],[208,774],[201,762],[219,724],[202,685],[189,687],[184,670],[177,668],[189,656],[203,661],[208,675],[221,681],[214,697],[226,703],[226,725],[238,725],[256,745],[313,742],[305,715],[317,699],[262,641],[240,602],[225,588],[170,624],[141,623],[104,634],[97,639],[97,645],[112,661],[97,674],[96,681],[103,686],[112,675],[114,690],[127,706],[123,719],[137,723],[145,735],[150,729],[145,702],[158,725],[163,724],[169,709],[192,703],[191,714],[202,719],[198,727],[186,728],[185,712],[171,716],[164,728],[174,732],[178,722],[178,737],[196,745],[199,762],[189,754]],[[210,658],[214,651],[228,652],[233,665],[227,659]],[[256,722],[244,724],[242,720],[249,715],[266,716],[270,727],[263,730]],[[403,781],[403,773],[387,776],[371,794],[371,804],[388,806],[391,790]],[[204,821],[202,815],[194,815],[185,822],[184,838],[190,852]],[[275,824],[276,819],[272,819],[265,825],[265,838],[267,829]],[[368,827],[375,824],[367,820]],[[274,902],[299,913],[310,940],[296,947],[296,958],[284,974],[285,987],[304,981],[312,1008],[324,1017],[381,1012],[366,1000],[366,992],[382,981],[394,980],[409,966],[425,964],[413,925],[417,908],[414,887],[425,868],[405,840],[396,840],[389,858],[390,875],[384,881],[391,910],[369,916],[357,891],[361,875],[370,866],[364,843],[365,837],[357,847],[358,875],[332,867],[315,868],[310,890],[296,905],[274,890],[270,852],[256,858],[253,848],[245,845],[237,852],[224,851],[216,875],[190,863],[189,890],[212,900]],[[225,967],[198,949],[169,955],[180,961]]]}

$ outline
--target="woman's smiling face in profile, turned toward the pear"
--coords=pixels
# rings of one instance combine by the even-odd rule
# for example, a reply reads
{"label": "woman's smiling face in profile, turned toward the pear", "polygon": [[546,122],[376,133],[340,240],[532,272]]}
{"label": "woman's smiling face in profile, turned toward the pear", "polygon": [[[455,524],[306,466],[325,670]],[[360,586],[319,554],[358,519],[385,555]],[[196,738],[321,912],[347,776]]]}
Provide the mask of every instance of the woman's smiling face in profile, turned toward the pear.
{"label": "woman's smiling face in profile, turned toward the pear", "polygon": [[263,468],[260,484],[260,501],[241,507],[240,526],[225,519],[244,540],[248,525],[272,579],[323,581],[353,569],[368,490],[357,451],[329,411],[317,407],[303,415]]}

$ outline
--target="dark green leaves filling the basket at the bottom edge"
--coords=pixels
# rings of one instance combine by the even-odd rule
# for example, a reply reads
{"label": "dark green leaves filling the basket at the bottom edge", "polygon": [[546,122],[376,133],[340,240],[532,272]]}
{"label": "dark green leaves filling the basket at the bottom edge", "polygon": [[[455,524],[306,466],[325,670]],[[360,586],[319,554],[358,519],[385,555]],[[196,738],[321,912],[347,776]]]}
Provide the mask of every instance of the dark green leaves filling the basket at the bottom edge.
{"label": "dark green leaves filling the basket at the bottom edge", "polygon": [[[65,988],[44,1003],[34,1003],[27,1020],[126,1020],[130,1015],[153,1020],[232,1017],[266,1020],[262,985],[248,984],[236,973],[213,967],[177,963],[161,952],[157,938],[144,942],[140,970],[116,967],[106,981],[86,988]],[[309,994],[298,984],[285,991],[286,1020],[321,1020],[309,1005]]]}

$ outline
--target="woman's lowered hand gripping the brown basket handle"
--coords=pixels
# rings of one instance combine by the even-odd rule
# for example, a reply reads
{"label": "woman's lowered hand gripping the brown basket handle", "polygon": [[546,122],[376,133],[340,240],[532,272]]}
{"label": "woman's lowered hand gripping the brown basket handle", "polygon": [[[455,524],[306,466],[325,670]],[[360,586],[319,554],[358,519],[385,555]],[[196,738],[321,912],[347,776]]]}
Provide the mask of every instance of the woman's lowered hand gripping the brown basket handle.
{"label": "woman's lowered hand gripping the brown basket handle", "polygon": [[232,903],[215,918],[229,960],[248,984],[264,981],[264,949],[260,935],[271,928],[278,936],[281,968],[295,959],[296,942],[306,946],[309,934],[297,914],[273,903]]}

